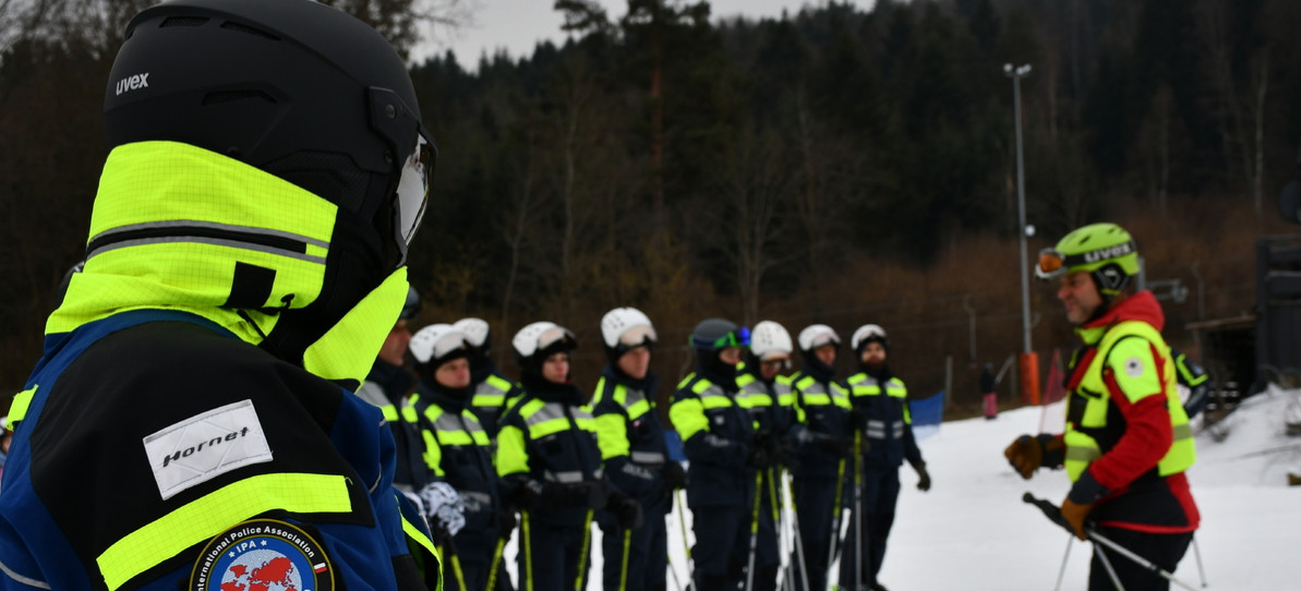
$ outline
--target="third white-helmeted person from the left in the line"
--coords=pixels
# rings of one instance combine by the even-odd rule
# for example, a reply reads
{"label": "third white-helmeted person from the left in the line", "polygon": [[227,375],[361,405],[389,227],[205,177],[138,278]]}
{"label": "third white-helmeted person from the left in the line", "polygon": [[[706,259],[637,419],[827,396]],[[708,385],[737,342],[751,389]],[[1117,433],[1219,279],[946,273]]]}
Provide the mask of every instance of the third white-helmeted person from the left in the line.
{"label": "third white-helmeted person from the left in the line", "polygon": [[501,418],[496,463],[520,509],[519,577],[533,591],[585,588],[595,512],[609,508],[635,530],[641,505],[606,480],[596,420],[570,379],[574,333],[536,322],[511,346],[524,394]]}

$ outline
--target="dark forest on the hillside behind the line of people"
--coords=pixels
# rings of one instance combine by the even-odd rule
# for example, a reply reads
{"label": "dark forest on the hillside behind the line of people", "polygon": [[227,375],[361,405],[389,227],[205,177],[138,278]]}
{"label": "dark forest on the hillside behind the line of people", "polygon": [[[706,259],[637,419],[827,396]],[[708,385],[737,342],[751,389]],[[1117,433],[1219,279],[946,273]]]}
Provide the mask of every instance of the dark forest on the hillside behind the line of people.
{"label": "dark forest on the hillside behind the line of people", "polygon": [[[26,29],[0,10],[12,391],[82,256],[108,69],[139,8],[62,1],[75,9]],[[332,4],[403,53],[432,17],[418,0]],[[1007,64],[1030,66],[1016,79],[1029,256],[1120,223],[1149,280],[1192,293],[1158,296],[1167,338],[1194,358],[1185,324],[1249,314],[1255,241],[1294,232],[1276,203],[1297,176],[1301,3],[830,1],[764,20],[717,20],[704,0],[556,9],[563,44],[411,62],[440,151],[411,254],[416,324],[484,318],[507,370],[514,331],[553,320],[578,333],[574,379],[589,389],[605,363],[597,322],[615,306],[656,322],[661,389],[690,370],[704,318],[778,320],[792,336],[825,323],[846,345],[876,323],[912,396],[947,388],[974,409],[977,364],[1023,348]],[[1075,337],[1054,290],[1032,277],[1029,292],[1046,375]]]}

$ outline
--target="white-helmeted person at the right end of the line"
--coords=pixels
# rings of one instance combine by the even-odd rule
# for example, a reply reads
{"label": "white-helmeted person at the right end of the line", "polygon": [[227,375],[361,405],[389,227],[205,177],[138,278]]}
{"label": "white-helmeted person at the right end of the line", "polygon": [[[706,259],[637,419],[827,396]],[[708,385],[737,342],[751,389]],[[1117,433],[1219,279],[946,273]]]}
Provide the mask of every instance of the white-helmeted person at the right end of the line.
{"label": "white-helmeted person at the right end of the line", "polygon": [[[850,378],[850,391],[855,410],[865,417],[866,452],[863,457],[863,531],[850,532],[846,539],[846,556],[857,556],[865,571],[855,573],[842,569],[840,583],[855,581],[868,582],[872,591],[885,591],[877,581],[881,562],[886,556],[886,542],[894,526],[895,504],[899,500],[899,466],[904,460],[917,471],[917,489],[930,491],[930,473],[921,458],[917,439],[912,435],[912,413],[908,409],[908,388],[903,380],[890,371],[887,357],[890,340],[886,331],[877,324],[864,324],[853,331],[850,345],[859,355],[859,372]],[[865,540],[857,548],[857,540]],[[840,562],[842,565],[846,561]]]}

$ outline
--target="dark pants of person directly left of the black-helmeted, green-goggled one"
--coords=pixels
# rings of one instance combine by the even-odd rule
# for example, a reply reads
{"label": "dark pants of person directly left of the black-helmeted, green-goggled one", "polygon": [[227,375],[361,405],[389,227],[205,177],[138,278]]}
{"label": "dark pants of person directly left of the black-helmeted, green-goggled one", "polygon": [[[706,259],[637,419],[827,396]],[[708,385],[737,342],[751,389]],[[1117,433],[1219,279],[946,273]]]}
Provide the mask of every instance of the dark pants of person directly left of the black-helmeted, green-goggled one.
{"label": "dark pants of person directly left of the black-helmeted, green-goggled one", "polygon": [[618,591],[621,581],[627,591],[644,591],[665,584],[669,570],[669,499],[643,505],[644,522],[628,536],[628,571],[623,573],[623,532],[614,515],[601,515],[602,583],[606,591]]}

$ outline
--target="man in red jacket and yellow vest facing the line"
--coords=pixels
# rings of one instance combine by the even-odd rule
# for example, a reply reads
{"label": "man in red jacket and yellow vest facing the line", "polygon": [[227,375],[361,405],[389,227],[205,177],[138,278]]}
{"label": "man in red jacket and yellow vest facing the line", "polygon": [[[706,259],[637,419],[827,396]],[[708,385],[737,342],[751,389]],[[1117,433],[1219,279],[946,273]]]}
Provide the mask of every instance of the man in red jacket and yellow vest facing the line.
{"label": "man in red jacket and yellow vest facing the line", "polygon": [[[1062,517],[1174,573],[1201,521],[1185,471],[1197,460],[1179,400],[1177,366],[1151,292],[1134,292],[1138,249],[1116,224],[1090,224],[1039,253],[1034,275],[1056,297],[1084,346],[1067,368],[1066,432],[1023,435],[1003,452],[1025,479],[1066,467]],[[1108,568],[1110,566],[1110,568]],[[1094,544],[1089,590],[1167,590],[1170,582]]]}

